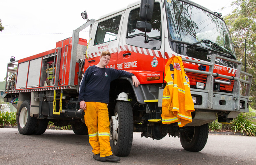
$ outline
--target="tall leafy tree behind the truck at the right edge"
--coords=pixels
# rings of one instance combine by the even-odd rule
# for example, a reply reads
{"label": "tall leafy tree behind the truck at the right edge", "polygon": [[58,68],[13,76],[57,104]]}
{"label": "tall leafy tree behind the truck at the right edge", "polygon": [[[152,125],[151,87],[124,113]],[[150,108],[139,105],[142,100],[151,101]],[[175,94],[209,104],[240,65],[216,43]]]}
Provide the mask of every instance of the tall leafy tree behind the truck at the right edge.
{"label": "tall leafy tree behind the truck at the right edge", "polygon": [[256,108],[256,1],[255,0],[237,0],[232,2],[235,6],[232,14],[224,17],[224,20],[230,30],[230,34],[235,45],[236,56],[243,62],[243,71],[245,70],[245,39],[246,39],[246,72],[253,75],[251,86],[250,104]]}

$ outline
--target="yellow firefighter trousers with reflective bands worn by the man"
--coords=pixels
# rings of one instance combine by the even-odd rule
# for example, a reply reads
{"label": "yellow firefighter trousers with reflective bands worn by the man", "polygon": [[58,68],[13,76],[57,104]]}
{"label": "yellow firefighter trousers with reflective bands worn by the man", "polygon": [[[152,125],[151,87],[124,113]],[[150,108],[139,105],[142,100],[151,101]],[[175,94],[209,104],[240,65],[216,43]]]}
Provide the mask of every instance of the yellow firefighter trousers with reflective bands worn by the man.
{"label": "yellow firefighter trousers with reflective bands worn by the man", "polygon": [[109,143],[109,117],[107,103],[85,102],[85,124],[88,128],[89,143],[94,154],[100,157],[112,155]]}

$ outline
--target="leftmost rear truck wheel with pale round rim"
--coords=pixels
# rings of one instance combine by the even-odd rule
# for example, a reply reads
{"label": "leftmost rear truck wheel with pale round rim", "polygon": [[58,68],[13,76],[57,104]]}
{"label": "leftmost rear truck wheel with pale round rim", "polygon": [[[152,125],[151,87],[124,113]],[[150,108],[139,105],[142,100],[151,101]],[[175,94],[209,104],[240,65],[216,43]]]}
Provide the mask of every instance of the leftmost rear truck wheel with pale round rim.
{"label": "leftmost rear truck wheel with pale round rim", "polygon": [[21,103],[17,115],[17,125],[20,134],[30,135],[35,132],[36,118],[31,117],[30,113],[30,101],[25,100]]}

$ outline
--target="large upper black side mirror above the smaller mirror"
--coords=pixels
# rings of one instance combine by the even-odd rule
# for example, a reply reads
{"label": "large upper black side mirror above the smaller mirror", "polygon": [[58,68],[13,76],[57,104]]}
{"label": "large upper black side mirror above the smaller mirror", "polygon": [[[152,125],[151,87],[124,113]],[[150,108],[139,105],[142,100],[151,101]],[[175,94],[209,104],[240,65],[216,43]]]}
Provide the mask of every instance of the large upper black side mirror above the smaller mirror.
{"label": "large upper black side mirror above the smaller mirror", "polygon": [[154,0],[141,0],[140,18],[150,21],[153,16]]}

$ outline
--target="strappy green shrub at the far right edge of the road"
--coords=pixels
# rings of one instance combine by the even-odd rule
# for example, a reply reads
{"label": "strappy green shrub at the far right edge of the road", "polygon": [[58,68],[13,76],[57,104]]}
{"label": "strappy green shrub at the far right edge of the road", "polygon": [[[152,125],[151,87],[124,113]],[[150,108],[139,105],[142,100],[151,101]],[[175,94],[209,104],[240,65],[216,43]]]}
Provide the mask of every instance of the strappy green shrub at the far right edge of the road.
{"label": "strappy green shrub at the far right edge of the road", "polygon": [[247,120],[242,113],[233,120],[231,125],[235,132],[242,132],[243,134],[246,133],[250,136],[256,135],[256,126],[251,122],[251,120]]}

